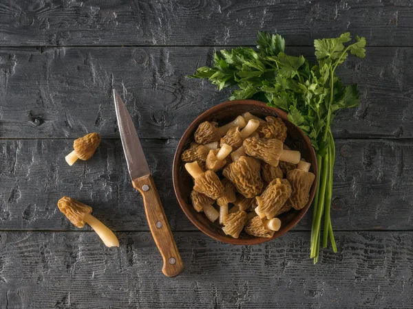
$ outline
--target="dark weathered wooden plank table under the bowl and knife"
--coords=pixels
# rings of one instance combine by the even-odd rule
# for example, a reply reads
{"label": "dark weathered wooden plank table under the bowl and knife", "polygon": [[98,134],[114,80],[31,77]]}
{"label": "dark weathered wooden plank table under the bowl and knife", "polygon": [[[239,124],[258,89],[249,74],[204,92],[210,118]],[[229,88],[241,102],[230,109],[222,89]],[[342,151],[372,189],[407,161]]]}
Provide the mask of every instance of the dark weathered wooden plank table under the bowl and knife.
{"label": "dark weathered wooden plank table under the bowl and knife", "polygon": [[[127,3],[125,3],[127,2]],[[308,258],[311,213],[277,240],[231,246],[200,233],[173,194],[178,139],[226,100],[186,76],[215,50],[279,32],[287,51],[366,36],[340,69],[360,106],[335,120],[338,253]],[[0,1],[0,308],[413,308],[413,6],[400,1]],[[111,98],[125,98],[185,271],[169,279],[132,189]],[[70,167],[72,142],[103,140]],[[56,207],[91,205],[108,249]]]}

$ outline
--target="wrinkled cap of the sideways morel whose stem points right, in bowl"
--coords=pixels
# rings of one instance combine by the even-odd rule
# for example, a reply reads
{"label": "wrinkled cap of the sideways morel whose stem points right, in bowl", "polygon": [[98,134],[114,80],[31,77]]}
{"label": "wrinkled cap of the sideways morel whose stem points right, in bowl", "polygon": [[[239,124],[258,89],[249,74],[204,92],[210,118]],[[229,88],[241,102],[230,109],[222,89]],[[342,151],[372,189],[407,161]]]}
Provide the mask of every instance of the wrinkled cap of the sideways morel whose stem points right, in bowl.
{"label": "wrinkled cap of the sideways morel whose stem points right, in bowl", "polygon": [[244,150],[247,155],[277,166],[282,152],[282,141],[279,139],[258,139],[250,137],[244,140]]}

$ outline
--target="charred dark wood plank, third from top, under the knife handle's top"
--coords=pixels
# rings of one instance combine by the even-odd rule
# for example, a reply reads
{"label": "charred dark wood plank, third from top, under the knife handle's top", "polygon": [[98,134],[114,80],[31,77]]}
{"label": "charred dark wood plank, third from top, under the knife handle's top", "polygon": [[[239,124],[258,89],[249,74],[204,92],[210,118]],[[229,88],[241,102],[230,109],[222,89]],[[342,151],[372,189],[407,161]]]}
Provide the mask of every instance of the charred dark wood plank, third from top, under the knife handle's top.
{"label": "charred dark wood plank, third from top, under the knife handle's top", "polygon": [[[176,140],[143,140],[173,230],[195,230],[173,193]],[[94,207],[118,231],[147,231],[140,194],[130,183],[119,140],[103,140],[92,159],[65,162],[72,140],[0,141],[0,229],[75,229],[59,212],[63,195]],[[413,141],[338,140],[332,221],[335,229],[412,230]],[[296,227],[309,230],[311,214]]]}

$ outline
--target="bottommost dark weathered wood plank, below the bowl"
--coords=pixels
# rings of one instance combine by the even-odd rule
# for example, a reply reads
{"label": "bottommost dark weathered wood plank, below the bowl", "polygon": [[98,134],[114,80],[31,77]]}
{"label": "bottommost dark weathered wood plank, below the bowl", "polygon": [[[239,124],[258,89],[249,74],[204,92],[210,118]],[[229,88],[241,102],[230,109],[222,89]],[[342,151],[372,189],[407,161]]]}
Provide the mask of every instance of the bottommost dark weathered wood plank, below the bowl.
{"label": "bottommost dark weathered wood plank, below the bowl", "polygon": [[313,265],[306,233],[235,247],[175,233],[182,275],[162,275],[147,232],[0,233],[1,308],[412,308],[413,233],[340,232]]}

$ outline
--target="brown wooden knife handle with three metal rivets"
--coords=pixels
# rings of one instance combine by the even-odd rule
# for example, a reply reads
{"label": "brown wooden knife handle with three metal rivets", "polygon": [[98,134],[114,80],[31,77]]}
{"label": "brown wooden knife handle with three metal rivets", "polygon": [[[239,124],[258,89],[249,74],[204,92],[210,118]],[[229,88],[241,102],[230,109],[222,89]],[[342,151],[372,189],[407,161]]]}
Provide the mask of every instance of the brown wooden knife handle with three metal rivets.
{"label": "brown wooden knife handle with three metal rivets", "polygon": [[134,179],[132,184],[142,194],[149,229],[163,258],[162,273],[167,277],[175,277],[182,272],[184,264],[182,264],[153,178],[151,175],[143,176]]}

